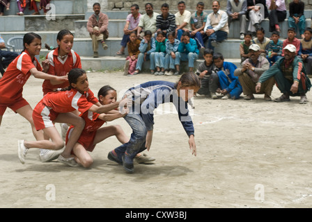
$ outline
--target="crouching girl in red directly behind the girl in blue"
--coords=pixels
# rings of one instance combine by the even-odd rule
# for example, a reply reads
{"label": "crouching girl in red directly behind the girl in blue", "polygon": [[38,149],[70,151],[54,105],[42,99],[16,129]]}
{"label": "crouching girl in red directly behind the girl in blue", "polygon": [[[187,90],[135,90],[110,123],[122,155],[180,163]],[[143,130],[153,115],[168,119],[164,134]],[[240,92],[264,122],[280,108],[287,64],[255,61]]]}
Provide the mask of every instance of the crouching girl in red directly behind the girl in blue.
{"label": "crouching girl in red directly behind the girl in blue", "polygon": [[[115,103],[116,98],[116,90],[109,85],[105,85],[98,92],[98,99],[101,105]],[[122,144],[129,141],[129,138],[125,135],[123,129],[118,125],[100,128],[106,121],[113,121],[114,119],[125,117],[127,111],[125,109],[123,111],[123,113],[120,113],[118,110],[111,110],[102,114],[88,111],[81,114],[86,125],[84,126],[84,130],[82,131],[78,142],[72,148],[72,153],[76,156],[75,160],[77,163],[81,164],[83,167],[90,167],[91,164],[93,164],[93,159],[88,152],[92,152],[96,144],[102,142],[108,137],[115,135],[118,141]],[[71,137],[73,129],[74,127],[70,126],[66,135],[66,142],[68,142],[68,138]]]}

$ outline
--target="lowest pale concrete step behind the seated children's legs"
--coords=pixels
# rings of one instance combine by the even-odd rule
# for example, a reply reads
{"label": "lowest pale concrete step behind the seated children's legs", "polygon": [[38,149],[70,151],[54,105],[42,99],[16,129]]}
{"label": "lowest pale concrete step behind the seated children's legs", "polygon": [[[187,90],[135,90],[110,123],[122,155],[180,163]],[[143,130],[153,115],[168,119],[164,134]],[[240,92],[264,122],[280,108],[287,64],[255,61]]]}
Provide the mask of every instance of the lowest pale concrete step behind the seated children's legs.
{"label": "lowest pale concrete step behind the seated children's legs", "polygon": [[[198,59],[195,62],[195,68],[198,67],[203,59]],[[227,62],[233,62],[237,67],[240,66],[240,59],[225,59]],[[123,70],[125,65],[125,57],[122,56],[100,56],[93,58],[90,56],[81,56],[81,66],[84,70]],[[181,71],[188,71],[187,62],[181,62]],[[150,71],[150,61],[143,62],[142,71]]]}

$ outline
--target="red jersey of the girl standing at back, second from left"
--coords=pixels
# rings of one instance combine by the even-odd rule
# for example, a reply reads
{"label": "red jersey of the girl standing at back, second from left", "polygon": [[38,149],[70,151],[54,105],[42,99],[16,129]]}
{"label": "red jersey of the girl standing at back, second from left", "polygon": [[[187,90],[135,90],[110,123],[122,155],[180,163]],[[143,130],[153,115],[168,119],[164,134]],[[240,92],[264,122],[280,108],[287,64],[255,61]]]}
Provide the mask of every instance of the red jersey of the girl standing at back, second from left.
{"label": "red jersey of the girl standing at back, second from left", "polygon": [[[61,58],[59,58],[59,49],[54,49],[50,51],[49,54],[47,54],[47,59],[49,60],[50,64],[47,73],[53,76],[65,76],[72,69],[81,69],[80,56],[73,50],[68,53],[68,56],[65,58],[65,60],[61,60]],[[58,85],[52,85],[50,80],[45,80],[42,83],[42,92],[45,95],[48,92],[54,92],[54,89],[62,89],[68,87],[68,85],[68,81]]]}

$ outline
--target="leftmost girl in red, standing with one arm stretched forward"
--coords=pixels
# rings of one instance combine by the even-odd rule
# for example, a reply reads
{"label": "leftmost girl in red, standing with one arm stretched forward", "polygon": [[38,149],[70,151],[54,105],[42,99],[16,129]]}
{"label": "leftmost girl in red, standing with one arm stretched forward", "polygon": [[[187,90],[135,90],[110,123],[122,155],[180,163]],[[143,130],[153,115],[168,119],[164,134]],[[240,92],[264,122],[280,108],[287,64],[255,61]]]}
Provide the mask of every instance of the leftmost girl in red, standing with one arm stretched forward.
{"label": "leftmost girl in red, standing with one arm stretched forward", "polygon": [[[8,69],[0,80],[0,125],[6,108],[10,108],[31,123],[33,135],[36,139],[43,139],[43,134],[37,131],[32,119],[33,110],[29,103],[23,98],[23,87],[28,78],[33,74],[35,78],[42,78],[63,83],[68,80],[67,76],[52,76],[45,72],[49,68],[47,61],[40,66],[36,55],[40,54],[41,37],[36,33],[26,33],[24,35],[24,51],[10,63]],[[43,72],[42,72],[43,71]]]}

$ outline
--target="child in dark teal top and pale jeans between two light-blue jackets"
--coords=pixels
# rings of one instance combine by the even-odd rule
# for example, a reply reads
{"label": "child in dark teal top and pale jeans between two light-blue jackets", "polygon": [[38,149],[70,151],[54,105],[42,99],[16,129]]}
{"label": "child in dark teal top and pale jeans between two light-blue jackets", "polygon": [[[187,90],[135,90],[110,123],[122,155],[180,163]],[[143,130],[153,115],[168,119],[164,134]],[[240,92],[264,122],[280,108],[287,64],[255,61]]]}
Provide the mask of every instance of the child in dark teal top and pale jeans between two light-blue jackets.
{"label": "child in dark teal top and pale jeans between two light-blue jackets", "polygon": [[155,52],[150,53],[150,71],[153,72],[156,67],[155,76],[164,75],[164,57],[166,56],[166,34],[164,31],[158,31],[155,41]]}

